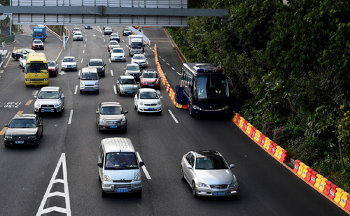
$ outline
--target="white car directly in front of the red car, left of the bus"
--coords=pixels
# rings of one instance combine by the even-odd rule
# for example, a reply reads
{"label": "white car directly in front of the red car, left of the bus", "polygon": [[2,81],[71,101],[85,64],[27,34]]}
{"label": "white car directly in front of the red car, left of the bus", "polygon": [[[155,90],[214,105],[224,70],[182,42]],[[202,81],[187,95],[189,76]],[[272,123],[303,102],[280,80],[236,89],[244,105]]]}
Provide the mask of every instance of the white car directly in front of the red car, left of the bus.
{"label": "white car directly in front of the red car, left of the bus", "polygon": [[137,113],[162,113],[162,98],[155,89],[139,89],[134,97]]}

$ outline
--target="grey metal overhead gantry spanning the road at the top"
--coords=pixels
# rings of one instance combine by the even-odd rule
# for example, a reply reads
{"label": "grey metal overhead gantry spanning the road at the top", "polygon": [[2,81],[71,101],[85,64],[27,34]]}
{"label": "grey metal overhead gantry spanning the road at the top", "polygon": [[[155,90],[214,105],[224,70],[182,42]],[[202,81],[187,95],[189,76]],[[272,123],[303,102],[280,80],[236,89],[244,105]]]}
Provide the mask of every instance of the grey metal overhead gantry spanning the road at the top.
{"label": "grey metal overhead gantry spanning the road at the top", "polygon": [[12,13],[13,24],[184,27],[188,16],[228,10],[187,8],[187,0],[12,0],[0,13]]}

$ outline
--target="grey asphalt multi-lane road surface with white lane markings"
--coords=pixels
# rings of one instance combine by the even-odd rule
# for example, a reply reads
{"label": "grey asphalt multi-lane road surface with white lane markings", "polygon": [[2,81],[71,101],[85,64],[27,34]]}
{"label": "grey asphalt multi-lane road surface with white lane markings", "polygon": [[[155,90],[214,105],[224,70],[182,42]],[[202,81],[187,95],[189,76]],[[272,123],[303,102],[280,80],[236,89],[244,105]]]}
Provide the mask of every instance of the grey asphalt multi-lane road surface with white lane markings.
{"label": "grey asphalt multi-lane road surface with white lane markings", "polygon": [[[71,31],[73,26],[68,28]],[[80,28],[84,41],[73,41],[70,36],[62,50],[62,41],[49,33],[43,50],[48,58],[57,59],[59,68],[64,56],[78,59],[78,71],[50,78],[50,85],[61,87],[65,95],[62,117],[42,117],[44,134],[36,148],[8,148],[0,143],[0,215],[40,215],[45,210],[53,210],[48,215],[64,215],[57,211],[71,215],[346,215],[270,157],[233,122],[190,117],[188,110],[174,106],[164,87],[160,91],[162,114],[138,115],[134,97],[118,96],[114,89],[130,57],[127,55],[126,63],[110,63],[109,36],[104,36],[102,27]],[[113,30],[121,34],[123,27]],[[144,29],[144,34],[152,43],[145,48],[147,69],[156,69],[157,44],[170,85],[179,84],[181,60],[165,31],[150,28]],[[30,32],[15,39],[18,43],[7,50],[30,48]],[[120,45],[127,51],[127,36],[120,38]],[[79,94],[78,73],[91,58],[104,59],[106,76],[100,80],[99,94]],[[3,62],[0,125],[8,124],[17,113],[34,113],[34,95],[40,89],[25,86],[19,62],[6,58]],[[129,111],[127,133],[97,131],[95,111],[104,101],[118,101]],[[145,162],[141,198],[127,194],[102,198],[97,153],[100,141],[109,137],[130,138]],[[190,186],[180,179],[181,157],[190,150],[218,150],[228,164],[235,164],[238,196],[194,198]]]}

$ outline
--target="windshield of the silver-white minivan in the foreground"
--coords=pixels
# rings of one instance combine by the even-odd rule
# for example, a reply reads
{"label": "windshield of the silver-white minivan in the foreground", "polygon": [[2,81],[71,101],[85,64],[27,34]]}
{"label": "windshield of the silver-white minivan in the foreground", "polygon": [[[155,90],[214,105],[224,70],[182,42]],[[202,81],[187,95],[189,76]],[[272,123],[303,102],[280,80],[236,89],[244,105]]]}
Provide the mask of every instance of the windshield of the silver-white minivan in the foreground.
{"label": "windshield of the silver-white minivan in the foreground", "polygon": [[105,169],[137,169],[134,152],[112,152],[106,154]]}

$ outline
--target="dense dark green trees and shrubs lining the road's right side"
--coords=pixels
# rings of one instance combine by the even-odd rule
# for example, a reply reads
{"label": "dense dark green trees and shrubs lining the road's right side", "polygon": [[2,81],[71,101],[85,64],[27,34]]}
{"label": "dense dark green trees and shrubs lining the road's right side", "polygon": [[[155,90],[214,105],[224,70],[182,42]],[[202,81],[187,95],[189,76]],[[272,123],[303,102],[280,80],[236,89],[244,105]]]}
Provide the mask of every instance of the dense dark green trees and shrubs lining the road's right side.
{"label": "dense dark green trees and shrubs lining the road's right side", "polygon": [[350,190],[350,1],[189,1],[227,8],[168,28],[188,62],[222,67],[241,115]]}

